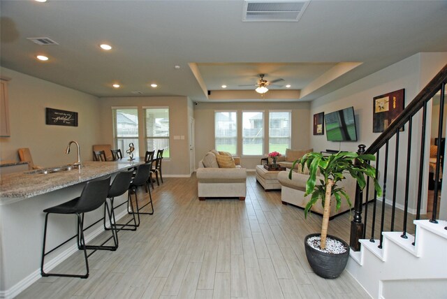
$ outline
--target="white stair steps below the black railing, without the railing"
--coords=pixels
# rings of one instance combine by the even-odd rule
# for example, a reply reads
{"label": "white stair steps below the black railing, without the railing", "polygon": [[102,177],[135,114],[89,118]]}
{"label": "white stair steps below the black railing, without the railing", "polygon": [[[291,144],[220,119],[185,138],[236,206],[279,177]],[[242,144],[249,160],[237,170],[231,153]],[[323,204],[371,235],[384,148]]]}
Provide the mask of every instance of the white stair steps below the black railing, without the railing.
{"label": "white stair steps below the black railing, without the railing", "polygon": [[379,240],[362,239],[351,251],[346,270],[372,298],[447,298],[447,221],[414,224],[416,240],[383,232],[382,249]]}

